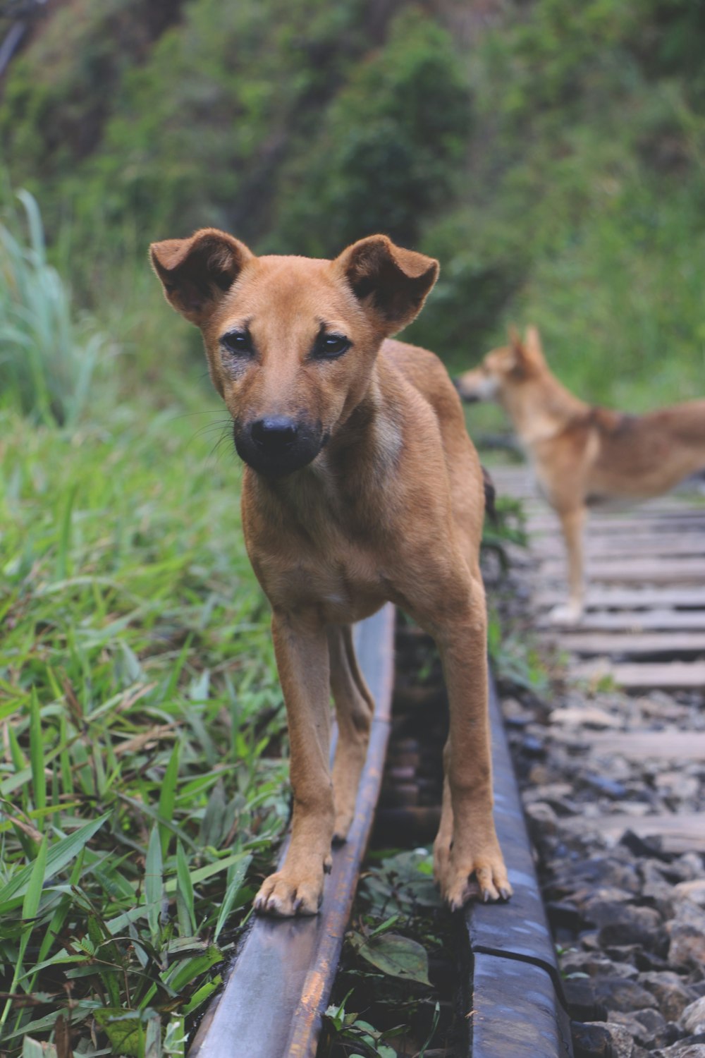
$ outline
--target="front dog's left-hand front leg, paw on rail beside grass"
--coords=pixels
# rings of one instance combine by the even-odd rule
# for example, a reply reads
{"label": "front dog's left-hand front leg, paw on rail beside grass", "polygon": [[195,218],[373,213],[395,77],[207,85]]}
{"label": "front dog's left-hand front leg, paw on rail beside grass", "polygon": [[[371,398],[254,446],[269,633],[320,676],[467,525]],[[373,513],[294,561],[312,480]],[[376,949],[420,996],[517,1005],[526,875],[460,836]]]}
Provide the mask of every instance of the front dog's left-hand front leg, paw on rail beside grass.
{"label": "front dog's left-hand front leg, paw on rail beside grass", "polygon": [[284,865],[265,878],[255,908],[280,916],[315,915],[330,868],[334,819],[328,639],[313,613],[296,618],[275,613],[272,635],[289,719],[294,811]]}

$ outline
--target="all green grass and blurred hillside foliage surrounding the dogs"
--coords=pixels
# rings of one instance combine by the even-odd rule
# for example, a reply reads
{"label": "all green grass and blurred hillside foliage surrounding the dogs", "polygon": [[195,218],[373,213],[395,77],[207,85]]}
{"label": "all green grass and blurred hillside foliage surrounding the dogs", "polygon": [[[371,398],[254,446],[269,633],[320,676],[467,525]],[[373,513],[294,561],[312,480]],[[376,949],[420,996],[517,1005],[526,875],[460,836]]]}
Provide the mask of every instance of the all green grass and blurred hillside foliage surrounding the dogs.
{"label": "all green grass and blurred hillside foliage surrounding the dogs", "polygon": [[0,0],[3,1054],[182,1056],[286,822],[239,466],[148,243],[387,232],[452,370],[535,323],[586,400],[703,396],[703,54],[705,0]]}

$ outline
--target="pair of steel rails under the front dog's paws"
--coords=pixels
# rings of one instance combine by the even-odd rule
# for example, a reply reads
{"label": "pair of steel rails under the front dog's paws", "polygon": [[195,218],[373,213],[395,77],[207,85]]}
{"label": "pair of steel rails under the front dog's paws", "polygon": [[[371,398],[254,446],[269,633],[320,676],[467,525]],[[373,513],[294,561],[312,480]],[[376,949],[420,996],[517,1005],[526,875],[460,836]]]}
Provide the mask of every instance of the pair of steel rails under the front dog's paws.
{"label": "pair of steel rails under the front dog's paws", "polygon": [[[407,635],[413,638],[412,632]],[[334,850],[320,913],[315,918],[253,920],[224,988],[196,1034],[189,1058],[313,1058],[316,1054],[321,1015],[337,971],[393,726],[397,728],[396,748],[392,749],[392,774],[387,777],[385,795],[389,801],[391,790],[392,806],[382,809],[378,826],[383,835],[391,827],[396,845],[404,838],[413,846],[420,837],[432,837],[440,814],[440,788],[431,799],[435,803],[422,807],[421,824],[416,805],[400,807],[397,798],[393,806],[394,787],[397,794],[400,787],[394,761],[400,752],[408,758],[410,742],[407,717],[391,714],[393,636],[391,607],[359,627],[358,656],[377,711],[355,824],[348,842]],[[515,895],[508,905],[470,905],[456,916],[460,965],[454,968],[452,1004],[461,1027],[452,1052],[435,1050],[433,1054],[571,1058],[570,1019],[494,688],[490,713],[497,826]],[[438,761],[443,737],[441,732],[433,749]],[[402,780],[405,774],[402,769]],[[401,785],[404,787],[404,782]],[[418,785],[414,789],[418,792]]]}

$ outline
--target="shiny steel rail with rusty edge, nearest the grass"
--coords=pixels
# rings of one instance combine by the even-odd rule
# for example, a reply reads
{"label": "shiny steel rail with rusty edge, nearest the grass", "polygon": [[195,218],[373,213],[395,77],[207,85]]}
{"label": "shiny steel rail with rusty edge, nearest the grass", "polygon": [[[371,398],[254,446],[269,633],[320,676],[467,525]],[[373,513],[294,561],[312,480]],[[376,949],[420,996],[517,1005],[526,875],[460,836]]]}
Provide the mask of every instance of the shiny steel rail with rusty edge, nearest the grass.
{"label": "shiny steel rail with rusty edge, nearest the grass", "polygon": [[[348,841],[333,850],[320,912],[307,918],[254,919],[189,1058],[315,1055],[382,783],[391,716],[393,607],[385,606],[356,631],[357,657],[375,715],[355,819]],[[280,862],[284,853],[285,846]]]}

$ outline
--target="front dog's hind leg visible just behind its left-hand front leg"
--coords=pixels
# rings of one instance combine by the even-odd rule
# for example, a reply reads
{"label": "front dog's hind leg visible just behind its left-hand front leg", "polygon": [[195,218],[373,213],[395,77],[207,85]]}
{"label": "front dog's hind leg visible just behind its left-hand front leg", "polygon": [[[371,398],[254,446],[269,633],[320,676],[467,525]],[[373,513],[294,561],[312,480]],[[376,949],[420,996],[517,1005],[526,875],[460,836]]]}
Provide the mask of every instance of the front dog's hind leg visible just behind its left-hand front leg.
{"label": "front dog's hind leg visible just behind its left-hand front leg", "polygon": [[374,700],[363,677],[349,624],[329,625],[331,691],[338,720],[333,763],[334,840],[345,841],[355,815],[360,772],[370,741]]}

